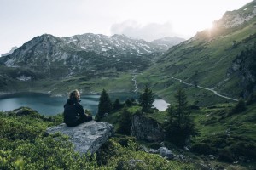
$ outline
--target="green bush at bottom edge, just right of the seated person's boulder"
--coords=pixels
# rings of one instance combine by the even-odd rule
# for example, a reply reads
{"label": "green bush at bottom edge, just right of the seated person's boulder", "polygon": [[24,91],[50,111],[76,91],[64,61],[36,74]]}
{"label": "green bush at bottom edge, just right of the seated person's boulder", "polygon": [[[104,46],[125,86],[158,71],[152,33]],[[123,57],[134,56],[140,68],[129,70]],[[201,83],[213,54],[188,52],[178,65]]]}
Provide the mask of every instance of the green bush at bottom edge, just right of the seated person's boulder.
{"label": "green bush at bottom edge, just right of the seated person's boulder", "polygon": [[111,169],[195,169],[191,164],[168,161],[156,154],[148,154],[137,150],[137,144],[129,141],[127,147],[122,147],[114,139],[109,139],[97,155],[100,165]]}

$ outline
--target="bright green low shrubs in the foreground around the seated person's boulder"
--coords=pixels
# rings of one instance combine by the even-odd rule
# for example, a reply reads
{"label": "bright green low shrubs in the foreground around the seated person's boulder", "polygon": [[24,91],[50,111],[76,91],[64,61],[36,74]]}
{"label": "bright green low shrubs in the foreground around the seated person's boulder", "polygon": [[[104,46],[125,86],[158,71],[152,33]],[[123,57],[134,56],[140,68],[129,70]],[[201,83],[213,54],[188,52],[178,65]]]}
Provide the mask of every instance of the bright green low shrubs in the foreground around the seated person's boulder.
{"label": "bright green low shrubs in the foreground around the seated person's boulder", "polygon": [[66,136],[45,133],[61,122],[61,115],[41,116],[28,108],[0,112],[0,169],[195,169],[145,153],[135,141],[124,145],[116,138],[97,155],[80,156]]}

